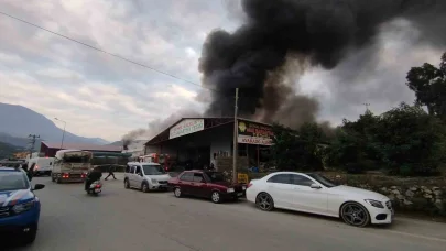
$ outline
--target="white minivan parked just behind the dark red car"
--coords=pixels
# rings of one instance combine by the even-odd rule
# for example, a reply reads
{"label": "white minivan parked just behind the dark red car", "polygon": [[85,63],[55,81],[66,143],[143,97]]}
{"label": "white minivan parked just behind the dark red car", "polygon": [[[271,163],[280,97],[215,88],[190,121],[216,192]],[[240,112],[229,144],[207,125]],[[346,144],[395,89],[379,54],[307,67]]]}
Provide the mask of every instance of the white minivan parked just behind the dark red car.
{"label": "white minivan parked just behind the dark red car", "polygon": [[167,189],[171,176],[157,163],[129,162],[124,174],[124,187],[137,188],[144,193]]}

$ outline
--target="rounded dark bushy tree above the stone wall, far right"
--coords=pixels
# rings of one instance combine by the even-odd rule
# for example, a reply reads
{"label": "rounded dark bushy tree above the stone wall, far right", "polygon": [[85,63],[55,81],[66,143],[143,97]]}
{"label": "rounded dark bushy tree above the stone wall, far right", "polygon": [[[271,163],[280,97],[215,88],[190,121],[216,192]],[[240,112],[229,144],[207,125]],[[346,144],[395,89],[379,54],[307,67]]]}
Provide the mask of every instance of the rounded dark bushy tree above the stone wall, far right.
{"label": "rounded dark bushy tree above the stone wall, far right", "polygon": [[446,150],[444,123],[404,102],[381,116],[373,137],[381,162],[395,174],[432,174]]}

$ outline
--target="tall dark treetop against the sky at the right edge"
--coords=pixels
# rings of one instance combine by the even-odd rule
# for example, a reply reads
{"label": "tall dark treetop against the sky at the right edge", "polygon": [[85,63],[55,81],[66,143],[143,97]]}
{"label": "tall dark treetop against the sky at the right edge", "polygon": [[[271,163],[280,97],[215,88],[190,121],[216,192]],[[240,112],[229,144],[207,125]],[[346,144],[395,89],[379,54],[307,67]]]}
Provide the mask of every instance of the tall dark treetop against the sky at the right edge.
{"label": "tall dark treetop against the sky at the right edge", "polygon": [[406,85],[415,92],[416,103],[426,106],[429,114],[446,119],[446,53],[439,68],[425,63],[412,67],[406,76]]}

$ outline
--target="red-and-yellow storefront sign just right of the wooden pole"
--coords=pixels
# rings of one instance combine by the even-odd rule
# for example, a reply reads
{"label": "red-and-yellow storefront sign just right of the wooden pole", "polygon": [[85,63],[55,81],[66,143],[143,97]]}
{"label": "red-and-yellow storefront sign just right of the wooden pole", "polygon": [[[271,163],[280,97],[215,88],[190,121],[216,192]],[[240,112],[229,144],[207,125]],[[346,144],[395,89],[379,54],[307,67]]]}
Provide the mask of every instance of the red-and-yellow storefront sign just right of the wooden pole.
{"label": "red-and-yellow storefront sign just right of the wooden pole", "polygon": [[238,142],[242,144],[272,145],[274,132],[272,127],[238,120]]}

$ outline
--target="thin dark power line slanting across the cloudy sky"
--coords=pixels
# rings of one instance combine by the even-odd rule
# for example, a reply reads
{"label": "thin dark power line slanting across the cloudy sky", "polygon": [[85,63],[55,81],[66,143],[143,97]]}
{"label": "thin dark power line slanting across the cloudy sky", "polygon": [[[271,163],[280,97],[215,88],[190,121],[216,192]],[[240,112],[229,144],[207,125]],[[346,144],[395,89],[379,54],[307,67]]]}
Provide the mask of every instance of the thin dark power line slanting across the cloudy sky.
{"label": "thin dark power line slanting across the cloudy sky", "polygon": [[11,19],[14,19],[14,20],[17,20],[17,21],[20,21],[20,22],[22,22],[22,23],[29,24],[29,25],[31,25],[31,26],[41,29],[41,30],[43,30],[43,31],[46,31],[46,32],[48,32],[48,33],[52,33],[53,35],[57,35],[57,36],[61,36],[61,37],[63,37],[63,39],[69,40],[69,41],[72,41],[72,42],[78,43],[78,44],[80,44],[80,45],[87,46],[87,47],[89,47],[89,48],[91,48],[91,50],[95,50],[95,51],[105,53],[105,54],[110,55],[110,56],[113,56],[113,57],[117,57],[117,58],[119,58],[119,59],[121,59],[121,61],[126,61],[126,62],[128,62],[128,63],[131,63],[131,64],[134,64],[134,65],[138,65],[138,66],[141,66],[141,67],[151,69],[151,70],[153,70],[153,72],[155,72],[155,73],[166,75],[166,76],[168,76],[168,77],[175,78],[175,79],[177,79],[177,80],[182,80],[182,81],[187,83],[187,84],[191,84],[191,85],[198,86],[198,87],[204,88],[204,89],[208,89],[208,90],[211,90],[211,91],[220,92],[220,91],[218,91],[218,90],[216,90],[216,89],[204,87],[204,86],[202,86],[202,85],[199,85],[199,84],[196,84],[196,83],[194,83],[194,81],[191,81],[191,80],[187,80],[187,79],[177,77],[177,76],[175,76],[175,75],[173,75],[173,74],[170,74],[170,73],[166,73],[166,72],[156,69],[156,68],[154,68],[154,67],[151,67],[151,66],[148,66],[148,65],[138,63],[138,62],[135,62],[135,61],[132,61],[132,59],[126,58],[126,57],[123,57],[123,56],[120,56],[120,55],[118,55],[118,54],[113,54],[113,53],[104,51],[102,48],[99,48],[99,47],[96,47],[96,46],[86,44],[86,43],[80,42],[80,41],[78,41],[78,40],[75,40],[75,39],[72,39],[72,37],[69,37],[69,36],[63,35],[63,34],[61,34],[61,33],[51,31],[51,30],[48,30],[48,29],[46,29],[46,28],[43,28],[43,26],[40,26],[40,25],[37,25],[37,24],[31,23],[31,22],[29,22],[29,21],[26,21],[26,20],[23,20],[23,19],[17,18],[17,17],[10,15],[10,14],[4,13],[4,12],[1,12],[1,11],[0,11],[0,14],[2,14],[2,15],[4,15],[4,17],[8,17],[8,18],[11,18]]}

